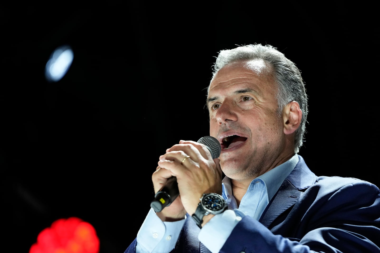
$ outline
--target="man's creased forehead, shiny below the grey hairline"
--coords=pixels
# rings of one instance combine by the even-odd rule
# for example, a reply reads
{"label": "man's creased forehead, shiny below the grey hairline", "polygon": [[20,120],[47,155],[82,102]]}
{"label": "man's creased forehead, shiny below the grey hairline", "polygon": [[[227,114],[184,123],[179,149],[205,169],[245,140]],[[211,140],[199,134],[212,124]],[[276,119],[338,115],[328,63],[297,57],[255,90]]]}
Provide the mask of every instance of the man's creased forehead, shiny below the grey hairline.
{"label": "man's creased forehead, shiny below the grey hairline", "polygon": [[227,64],[211,80],[209,96],[220,90],[250,88],[258,93],[275,90],[272,67],[264,60],[239,61]]}

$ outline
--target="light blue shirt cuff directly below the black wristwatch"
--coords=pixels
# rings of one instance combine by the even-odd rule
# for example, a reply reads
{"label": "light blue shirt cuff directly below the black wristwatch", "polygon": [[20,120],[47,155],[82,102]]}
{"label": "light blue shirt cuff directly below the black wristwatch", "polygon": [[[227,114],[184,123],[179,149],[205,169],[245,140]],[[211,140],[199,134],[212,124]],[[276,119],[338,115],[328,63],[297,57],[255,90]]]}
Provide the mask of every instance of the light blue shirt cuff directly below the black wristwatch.
{"label": "light blue shirt cuff directly below the black wristwatch", "polygon": [[218,253],[243,216],[238,209],[215,215],[199,232],[199,241],[212,253]]}

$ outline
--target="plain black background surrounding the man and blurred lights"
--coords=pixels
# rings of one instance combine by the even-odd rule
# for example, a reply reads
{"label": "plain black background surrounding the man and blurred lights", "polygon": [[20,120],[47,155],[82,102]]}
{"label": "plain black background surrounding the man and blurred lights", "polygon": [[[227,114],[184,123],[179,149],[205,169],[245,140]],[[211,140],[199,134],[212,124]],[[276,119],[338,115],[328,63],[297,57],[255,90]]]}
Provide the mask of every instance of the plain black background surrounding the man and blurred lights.
{"label": "plain black background surrounding the man and blurred lights", "polygon": [[[271,44],[309,95],[299,154],[317,175],[380,185],[378,25],[365,2],[113,2],[1,8],[5,244],[28,252],[59,218],[91,223],[101,253],[123,252],[154,197],[158,157],[209,134],[204,88],[214,57]],[[74,60],[44,79],[51,52]]]}

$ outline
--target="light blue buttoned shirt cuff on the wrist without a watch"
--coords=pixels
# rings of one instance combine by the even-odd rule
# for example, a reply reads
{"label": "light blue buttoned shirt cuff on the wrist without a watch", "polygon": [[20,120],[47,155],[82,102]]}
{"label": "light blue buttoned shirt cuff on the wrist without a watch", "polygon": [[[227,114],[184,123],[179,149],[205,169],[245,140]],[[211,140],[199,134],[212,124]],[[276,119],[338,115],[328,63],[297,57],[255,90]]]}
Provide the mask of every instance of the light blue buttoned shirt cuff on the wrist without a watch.
{"label": "light blue buttoned shirt cuff on the wrist without a watch", "polygon": [[185,219],[176,222],[162,222],[153,208],[150,208],[137,233],[136,252],[170,252],[174,249]]}

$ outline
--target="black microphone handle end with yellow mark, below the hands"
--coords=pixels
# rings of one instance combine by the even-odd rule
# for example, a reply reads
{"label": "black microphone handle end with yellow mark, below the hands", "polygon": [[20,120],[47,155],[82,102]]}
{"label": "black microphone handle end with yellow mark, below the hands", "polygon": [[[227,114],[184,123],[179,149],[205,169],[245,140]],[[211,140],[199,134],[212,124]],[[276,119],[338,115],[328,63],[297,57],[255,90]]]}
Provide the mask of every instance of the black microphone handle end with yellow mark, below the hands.
{"label": "black microphone handle end with yellow mark, below the hands", "polygon": [[169,206],[179,195],[177,178],[172,176],[166,181],[165,185],[155,194],[150,207],[155,212],[161,212],[164,207]]}

